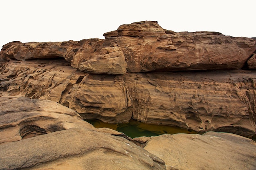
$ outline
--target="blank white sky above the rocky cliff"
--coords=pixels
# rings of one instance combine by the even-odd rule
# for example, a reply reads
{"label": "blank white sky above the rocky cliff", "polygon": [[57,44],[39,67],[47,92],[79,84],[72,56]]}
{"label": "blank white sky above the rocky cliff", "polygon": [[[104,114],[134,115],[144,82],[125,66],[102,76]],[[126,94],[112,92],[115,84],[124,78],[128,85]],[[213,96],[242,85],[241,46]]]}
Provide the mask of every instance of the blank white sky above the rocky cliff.
{"label": "blank white sky above the rocky cliff", "polygon": [[256,0],[0,0],[0,49],[11,41],[104,38],[121,24],[256,37]]}

